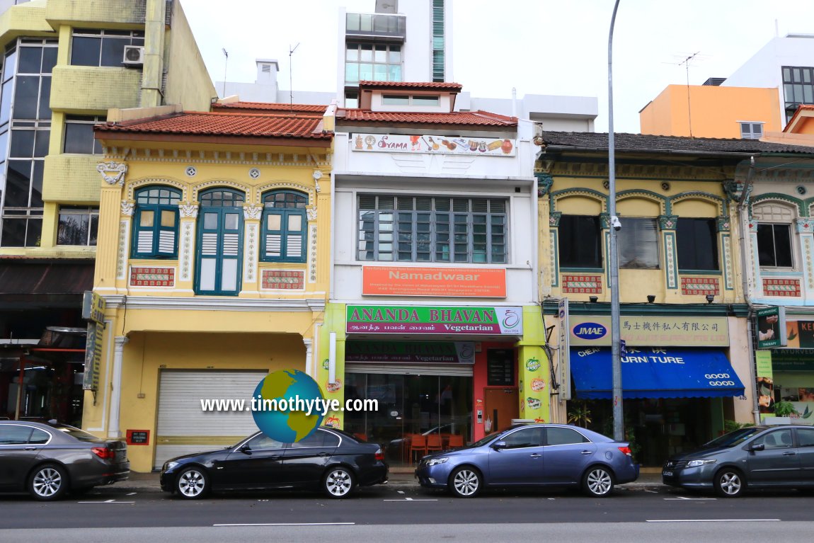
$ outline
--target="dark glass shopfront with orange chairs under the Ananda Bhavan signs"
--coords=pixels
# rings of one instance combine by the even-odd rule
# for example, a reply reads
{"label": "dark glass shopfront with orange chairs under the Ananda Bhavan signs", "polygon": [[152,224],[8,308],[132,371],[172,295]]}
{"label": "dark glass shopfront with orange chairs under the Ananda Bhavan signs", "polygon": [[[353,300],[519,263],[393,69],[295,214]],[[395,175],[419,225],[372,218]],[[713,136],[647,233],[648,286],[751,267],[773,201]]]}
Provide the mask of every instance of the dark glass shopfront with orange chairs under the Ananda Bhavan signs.
{"label": "dark glass shopfront with orange chairs under the Ananda Bhavan signs", "polygon": [[391,466],[471,439],[472,378],[347,374],[346,399],[375,399],[375,412],[345,412],[345,430],[379,443]]}

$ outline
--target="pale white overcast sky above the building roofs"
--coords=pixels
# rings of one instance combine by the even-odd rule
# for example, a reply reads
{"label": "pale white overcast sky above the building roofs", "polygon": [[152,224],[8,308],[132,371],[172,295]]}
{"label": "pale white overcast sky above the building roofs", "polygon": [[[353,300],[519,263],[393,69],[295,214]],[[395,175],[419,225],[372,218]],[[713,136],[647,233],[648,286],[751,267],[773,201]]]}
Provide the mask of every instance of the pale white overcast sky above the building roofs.
{"label": "pale white overcast sky above the building roofs", "polygon": [[[255,59],[278,59],[278,85],[335,91],[337,17],[374,0],[181,0],[213,81],[256,79]],[[409,0],[401,0],[409,2]],[[564,94],[599,99],[607,131],[607,40],[613,0],[454,0],[453,80],[472,96]],[[727,77],[776,35],[814,34],[812,0],[621,0],[614,37],[614,123],[638,132],[638,112],[667,85]]]}

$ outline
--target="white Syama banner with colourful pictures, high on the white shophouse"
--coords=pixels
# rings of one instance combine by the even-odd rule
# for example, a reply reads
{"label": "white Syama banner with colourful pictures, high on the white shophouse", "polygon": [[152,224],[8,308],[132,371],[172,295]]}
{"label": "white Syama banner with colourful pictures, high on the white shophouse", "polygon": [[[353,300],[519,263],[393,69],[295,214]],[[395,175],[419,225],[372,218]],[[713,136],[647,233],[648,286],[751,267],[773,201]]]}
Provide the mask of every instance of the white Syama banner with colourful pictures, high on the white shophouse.
{"label": "white Syama banner with colourful pictures, high on the white shophouse", "polygon": [[414,155],[514,156],[517,140],[507,138],[461,138],[407,134],[356,134],[353,151],[411,153]]}

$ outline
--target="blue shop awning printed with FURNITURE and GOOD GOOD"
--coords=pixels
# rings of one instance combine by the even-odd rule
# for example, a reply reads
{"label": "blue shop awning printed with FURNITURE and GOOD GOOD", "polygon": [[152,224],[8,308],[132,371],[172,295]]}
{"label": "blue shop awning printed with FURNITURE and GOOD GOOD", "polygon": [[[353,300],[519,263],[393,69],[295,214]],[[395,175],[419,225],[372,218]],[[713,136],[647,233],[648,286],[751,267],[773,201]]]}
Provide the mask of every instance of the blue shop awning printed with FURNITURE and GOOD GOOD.
{"label": "blue shop awning printed with FURNITURE and GOOD GOOD", "polygon": [[[743,383],[726,354],[714,348],[628,348],[622,357],[623,398],[717,398],[741,396]],[[576,396],[613,396],[610,348],[572,348]]]}

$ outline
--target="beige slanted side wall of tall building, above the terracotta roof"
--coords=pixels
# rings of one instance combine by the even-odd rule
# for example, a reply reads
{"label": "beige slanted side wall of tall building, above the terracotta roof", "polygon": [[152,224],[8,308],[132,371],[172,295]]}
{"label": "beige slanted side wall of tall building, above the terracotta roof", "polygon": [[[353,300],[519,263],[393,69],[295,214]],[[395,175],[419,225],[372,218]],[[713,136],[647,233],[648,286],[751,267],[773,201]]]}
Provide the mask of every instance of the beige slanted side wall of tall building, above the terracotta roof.
{"label": "beige slanted side wall of tall building, above the terracotta roof", "polygon": [[179,2],[173,2],[173,29],[165,37],[164,65],[168,69],[164,103],[180,103],[186,111],[208,112],[217,98],[195,36]]}

